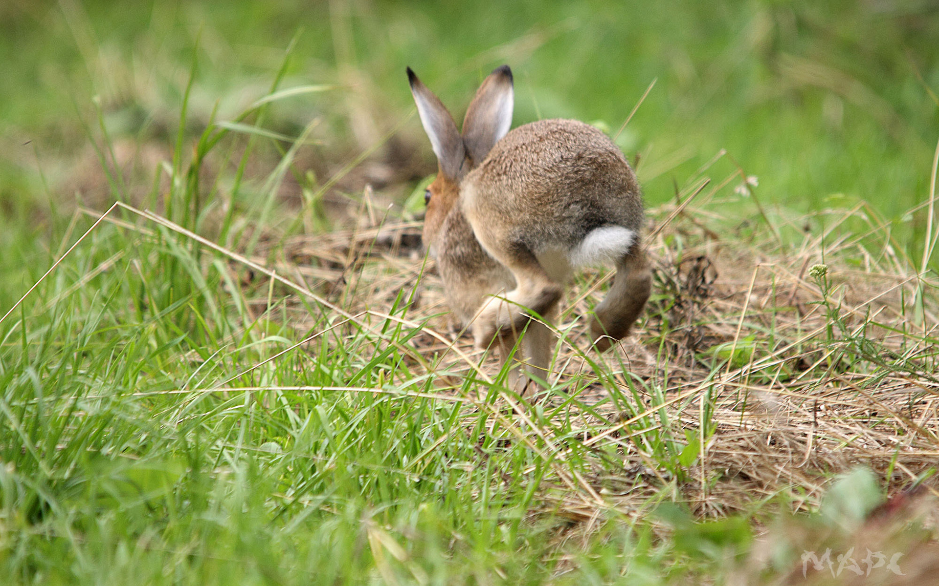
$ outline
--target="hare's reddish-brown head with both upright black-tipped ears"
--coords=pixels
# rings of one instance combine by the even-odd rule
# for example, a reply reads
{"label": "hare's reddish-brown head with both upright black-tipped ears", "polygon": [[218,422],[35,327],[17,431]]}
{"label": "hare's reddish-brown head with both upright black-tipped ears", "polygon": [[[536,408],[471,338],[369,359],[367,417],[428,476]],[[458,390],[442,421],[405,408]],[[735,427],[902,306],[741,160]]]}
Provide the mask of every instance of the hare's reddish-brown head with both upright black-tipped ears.
{"label": "hare's reddish-brown head with both upright black-tipped ears", "polygon": [[492,146],[512,126],[512,70],[502,66],[485,78],[469,103],[462,134],[456,129],[454,117],[410,68],[408,82],[421,124],[437,155],[437,178],[424,192],[427,212],[423,241],[432,248],[443,220],[457,203],[460,181],[483,162]]}

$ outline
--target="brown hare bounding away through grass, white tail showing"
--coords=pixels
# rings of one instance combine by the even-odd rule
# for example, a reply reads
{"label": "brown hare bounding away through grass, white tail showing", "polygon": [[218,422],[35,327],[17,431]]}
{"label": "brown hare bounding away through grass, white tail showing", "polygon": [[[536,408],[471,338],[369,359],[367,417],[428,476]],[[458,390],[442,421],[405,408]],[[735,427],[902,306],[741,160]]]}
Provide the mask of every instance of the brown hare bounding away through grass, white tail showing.
{"label": "brown hare bounding away through grass, white tail showing", "polygon": [[614,264],[616,277],[595,309],[593,345],[603,352],[628,335],[651,276],[639,242],[639,183],[620,149],[576,120],[510,131],[508,66],[480,85],[462,134],[410,68],[408,82],[439,164],[424,192],[423,241],[437,259],[448,305],[472,323],[477,347],[495,340],[504,363],[526,331],[525,361],[546,381],[554,339],[547,324],[573,269],[596,263]]}

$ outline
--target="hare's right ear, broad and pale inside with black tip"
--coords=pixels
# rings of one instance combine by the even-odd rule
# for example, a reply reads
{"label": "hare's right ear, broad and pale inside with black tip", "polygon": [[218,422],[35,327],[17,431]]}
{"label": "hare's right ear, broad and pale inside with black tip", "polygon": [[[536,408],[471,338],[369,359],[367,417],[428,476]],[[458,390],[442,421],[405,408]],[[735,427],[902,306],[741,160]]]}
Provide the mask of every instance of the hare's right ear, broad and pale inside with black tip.
{"label": "hare's right ear, broad and pale inside with black tip", "polygon": [[463,119],[463,143],[473,164],[483,162],[492,146],[512,127],[514,103],[512,69],[503,65],[493,70],[476,90]]}

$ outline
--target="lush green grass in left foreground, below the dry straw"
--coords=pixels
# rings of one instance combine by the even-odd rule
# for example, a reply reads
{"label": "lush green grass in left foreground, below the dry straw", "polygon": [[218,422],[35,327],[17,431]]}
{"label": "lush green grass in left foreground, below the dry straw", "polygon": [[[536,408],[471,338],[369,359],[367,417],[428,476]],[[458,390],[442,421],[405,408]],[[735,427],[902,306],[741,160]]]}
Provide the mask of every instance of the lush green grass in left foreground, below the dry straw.
{"label": "lush green grass in left foreground, below the dry straw", "polygon": [[[264,287],[239,292],[239,271],[138,226],[101,224],[3,324],[5,575],[541,583],[554,573],[567,548],[552,510],[597,461],[582,450],[552,458],[570,422],[542,441],[495,410],[498,387],[482,402],[421,396],[435,389],[408,348],[419,329],[331,330],[341,316],[317,304],[322,336],[265,363],[305,336],[277,325],[289,323],[280,294],[252,318],[246,306]],[[637,555],[628,526],[610,522],[596,552],[571,550],[598,577],[615,575],[623,551]]]}

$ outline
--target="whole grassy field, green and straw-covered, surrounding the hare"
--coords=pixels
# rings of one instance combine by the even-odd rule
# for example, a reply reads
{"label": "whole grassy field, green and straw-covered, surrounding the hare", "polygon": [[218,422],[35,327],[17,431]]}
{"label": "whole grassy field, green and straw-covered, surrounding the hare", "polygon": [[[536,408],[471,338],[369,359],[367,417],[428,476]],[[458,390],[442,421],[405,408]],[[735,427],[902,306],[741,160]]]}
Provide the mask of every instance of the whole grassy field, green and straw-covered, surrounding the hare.
{"label": "whole grassy field, green and straw-covered, surrounding the hare", "polygon": [[[856,525],[884,491],[935,472],[917,459],[935,444],[935,283],[897,285],[921,268],[926,210],[903,215],[928,197],[939,136],[929,8],[143,6],[0,8],[10,583],[722,583],[774,519]],[[620,139],[650,204],[712,179],[651,240],[637,348],[654,364],[639,350],[582,358],[572,333],[559,363],[580,370],[538,404],[432,337],[444,328],[420,260],[320,242],[335,186],[383,214],[341,181],[363,153],[388,157],[399,125],[402,144],[423,145],[405,65],[459,111],[502,62],[516,124],[615,131],[657,78]],[[138,168],[115,173],[125,148]],[[734,193],[741,172],[759,177],[754,193]],[[417,180],[399,176],[390,197]],[[657,225],[673,209],[654,210]],[[688,288],[699,255],[731,269],[711,301]],[[793,278],[803,259],[830,272]],[[880,293],[883,308],[867,302]],[[741,464],[747,446],[727,438],[747,401],[772,410],[747,395],[761,385],[795,398],[803,428],[770,428],[772,452]],[[904,436],[908,453],[863,443],[873,456],[839,459],[880,437],[864,430]],[[777,473],[786,449],[808,466]],[[826,480],[858,461],[875,475],[835,483],[826,510]],[[778,541],[783,571],[803,543]]]}

